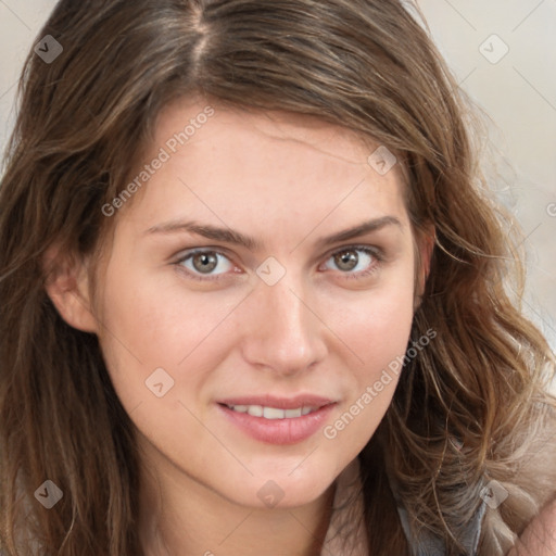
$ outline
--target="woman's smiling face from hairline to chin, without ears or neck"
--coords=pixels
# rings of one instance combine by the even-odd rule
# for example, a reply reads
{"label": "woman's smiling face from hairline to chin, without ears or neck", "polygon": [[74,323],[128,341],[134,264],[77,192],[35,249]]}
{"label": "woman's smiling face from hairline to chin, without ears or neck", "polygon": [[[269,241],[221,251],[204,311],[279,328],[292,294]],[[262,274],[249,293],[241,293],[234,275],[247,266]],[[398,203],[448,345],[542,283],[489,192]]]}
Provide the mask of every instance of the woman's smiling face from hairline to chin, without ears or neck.
{"label": "woman's smiling face from hairline to chin, without ears or neck", "polygon": [[106,216],[96,308],[143,460],[174,484],[302,505],[375,432],[415,279],[402,174],[383,150],[369,164],[378,147],[287,113],[162,113],[140,188]]}

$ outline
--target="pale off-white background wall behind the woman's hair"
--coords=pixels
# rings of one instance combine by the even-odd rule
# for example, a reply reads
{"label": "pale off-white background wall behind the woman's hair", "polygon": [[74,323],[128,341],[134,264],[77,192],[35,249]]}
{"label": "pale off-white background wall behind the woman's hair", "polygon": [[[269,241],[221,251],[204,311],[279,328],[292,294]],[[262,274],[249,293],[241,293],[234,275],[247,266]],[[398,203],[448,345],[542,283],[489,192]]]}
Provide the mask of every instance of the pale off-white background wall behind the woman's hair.
{"label": "pale off-white background wall behind the woman's hair", "polygon": [[[13,125],[23,61],[54,4],[0,0],[1,150]],[[418,5],[460,87],[492,118],[502,176],[493,187],[527,238],[525,308],[556,349],[556,0],[419,0]]]}

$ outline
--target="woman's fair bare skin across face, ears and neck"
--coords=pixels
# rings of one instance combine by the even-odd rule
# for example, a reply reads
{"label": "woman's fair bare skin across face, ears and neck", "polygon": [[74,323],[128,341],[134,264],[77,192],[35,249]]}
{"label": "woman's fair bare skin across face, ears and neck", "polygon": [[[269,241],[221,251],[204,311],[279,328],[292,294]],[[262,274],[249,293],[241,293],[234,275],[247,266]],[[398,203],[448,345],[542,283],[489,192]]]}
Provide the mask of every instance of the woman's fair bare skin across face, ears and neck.
{"label": "woman's fair bare skin across face, ears and neck", "polygon": [[[144,162],[206,104],[168,105]],[[315,393],[337,402],[326,422],[333,424],[404,355],[416,271],[426,274],[431,243],[417,243],[416,269],[400,166],[381,176],[367,163],[378,144],[308,116],[213,106],[113,216],[94,300],[87,262],[62,273],[49,294],[68,324],[98,334],[137,427],[148,556],[318,555],[334,480],[375,432],[396,376],[336,438],[319,430],[293,445],[252,439],[216,402]],[[319,243],[384,216],[399,224]],[[178,219],[231,228],[262,245],[148,232]],[[355,269],[339,268],[333,253],[353,254],[354,245],[378,250],[382,261],[357,251]],[[179,262],[194,248],[228,257],[217,279],[195,279],[205,275]],[[256,274],[269,256],[286,269],[274,286]],[[146,387],[160,367],[174,380],[162,397]],[[274,508],[257,496],[269,480],[283,494]]]}

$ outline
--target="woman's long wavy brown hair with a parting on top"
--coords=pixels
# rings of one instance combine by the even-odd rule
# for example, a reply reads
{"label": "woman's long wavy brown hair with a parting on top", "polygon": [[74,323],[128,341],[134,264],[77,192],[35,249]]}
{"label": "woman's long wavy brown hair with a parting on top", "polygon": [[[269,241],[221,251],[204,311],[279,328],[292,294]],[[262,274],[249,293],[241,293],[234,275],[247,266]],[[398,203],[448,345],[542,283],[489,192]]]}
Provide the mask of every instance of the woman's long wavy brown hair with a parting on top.
{"label": "woman's long wavy brown hair with a parting on top", "polygon": [[[430,531],[447,554],[462,553],[489,480],[509,496],[486,510],[481,555],[504,554],[554,495],[554,357],[519,311],[517,242],[489,201],[469,102],[410,10],[397,0],[58,3],[40,37],[63,51],[26,60],[0,188],[10,556],[31,553],[27,538],[45,554],[142,554],[132,424],[97,338],[50,302],[41,262],[53,244],[99,252],[117,218],[101,207],[152,142],[160,110],[198,92],[215,105],[311,114],[387,146],[408,177],[415,232],[435,228],[412,340],[431,328],[437,338],[406,363],[361,455],[371,553],[409,553],[392,481],[414,534]],[[45,480],[63,491],[50,511],[34,498]]]}

